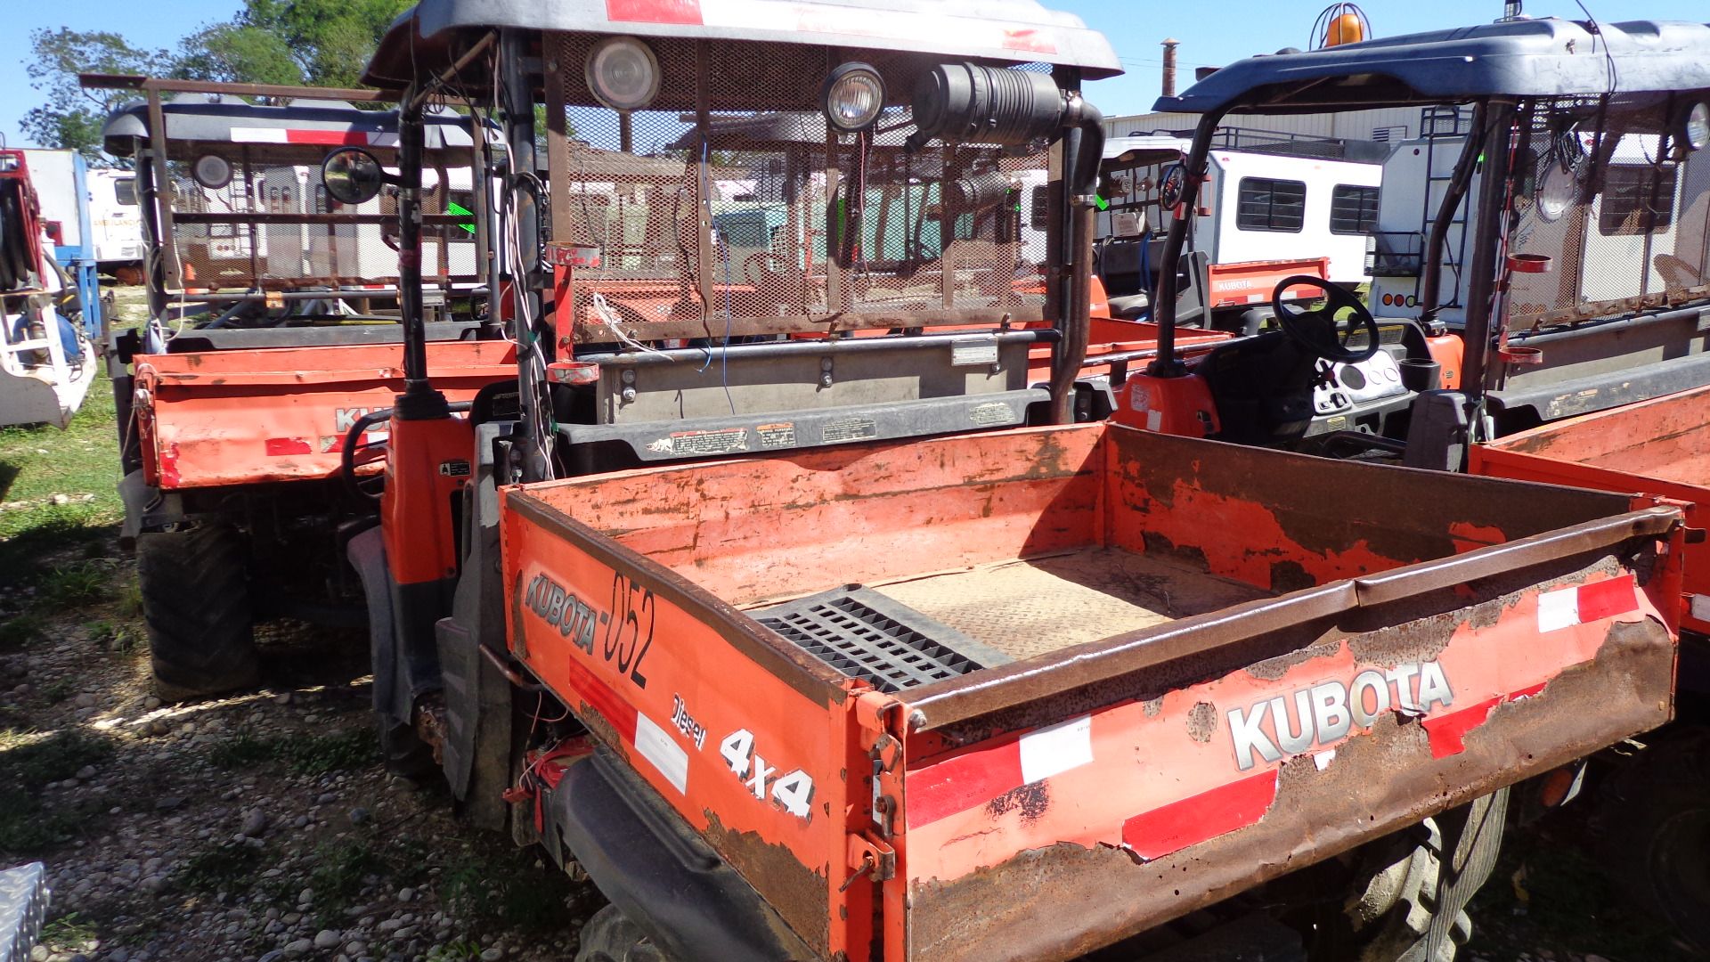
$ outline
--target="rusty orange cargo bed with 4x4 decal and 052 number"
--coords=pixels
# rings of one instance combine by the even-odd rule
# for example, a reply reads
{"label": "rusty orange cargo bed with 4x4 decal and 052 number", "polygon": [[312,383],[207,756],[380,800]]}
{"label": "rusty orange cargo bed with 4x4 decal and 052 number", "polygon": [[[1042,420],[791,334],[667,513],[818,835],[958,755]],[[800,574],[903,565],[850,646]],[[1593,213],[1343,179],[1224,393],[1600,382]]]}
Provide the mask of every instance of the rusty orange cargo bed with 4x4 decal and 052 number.
{"label": "rusty orange cargo bed with 4x4 decal and 052 number", "polygon": [[1067,959],[1671,714],[1647,498],[1086,425],[503,505],[510,654],[811,955]]}

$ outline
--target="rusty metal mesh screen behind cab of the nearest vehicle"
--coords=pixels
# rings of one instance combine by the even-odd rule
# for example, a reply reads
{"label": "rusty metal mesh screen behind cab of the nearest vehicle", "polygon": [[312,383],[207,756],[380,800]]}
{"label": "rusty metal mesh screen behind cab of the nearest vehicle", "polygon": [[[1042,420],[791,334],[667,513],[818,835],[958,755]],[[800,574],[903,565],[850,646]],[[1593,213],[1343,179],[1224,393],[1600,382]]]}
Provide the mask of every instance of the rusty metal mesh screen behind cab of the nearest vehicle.
{"label": "rusty metal mesh screen behind cab of the nearest vehicle", "polygon": [[[723,337],[850,315],[881,329],[970,310],[1041,315],[1045,233],[1021,207],[1045,183],[1043,147],[908,154],[905,108],[870,135],[831,135],[816,101],[840,60],[812,46],[698,55],[658,39],[657,110],[624,116],[587,89],[597,39],[547,38],[549,110],[563,116],[552,240],[600,253],[598,269],[575,274],[578,341],[621,341],[617,327],[643,322]],[[901,65],[881,70],[911,80]]]}

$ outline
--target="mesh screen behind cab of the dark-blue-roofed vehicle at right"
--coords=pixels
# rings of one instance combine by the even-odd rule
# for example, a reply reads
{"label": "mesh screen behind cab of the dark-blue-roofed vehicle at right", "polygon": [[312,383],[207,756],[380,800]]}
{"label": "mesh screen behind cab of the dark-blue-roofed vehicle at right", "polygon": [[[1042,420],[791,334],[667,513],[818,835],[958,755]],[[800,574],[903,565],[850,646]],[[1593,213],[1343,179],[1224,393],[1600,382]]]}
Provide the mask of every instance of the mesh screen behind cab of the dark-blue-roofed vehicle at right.
{"label": "mesh screen behind cab of the dark-blue-roofed vehicle at right", "polygon": [[1660,106],[1548,101],[1522,115],[1508,327],[1607,317],[1710,296],[1710,157],[1674,159]]}

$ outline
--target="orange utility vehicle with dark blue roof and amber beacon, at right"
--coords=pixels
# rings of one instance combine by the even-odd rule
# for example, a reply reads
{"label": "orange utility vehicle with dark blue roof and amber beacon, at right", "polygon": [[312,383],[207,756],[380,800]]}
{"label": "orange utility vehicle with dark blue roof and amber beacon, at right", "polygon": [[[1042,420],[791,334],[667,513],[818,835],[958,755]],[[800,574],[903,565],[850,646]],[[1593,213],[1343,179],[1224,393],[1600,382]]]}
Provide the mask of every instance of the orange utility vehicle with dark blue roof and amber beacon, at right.
{"label": "orange utility vehicle with dark blue roof and amber beacon, at right", "polygon": [[[1710,948],[1707,50],[1710,24],[1505,21],[1243,60],[1159,101],[1202,113],[1190,169],[1224,113],[1423,104],[1426,137],[1387,164],[1421,180],[1387,176],[1380,217],[1421,224],[1423,205],[1423,226],[1378,235],[1377,318],[1332,291],[1281,334],[1161,359],[1117,389],[1117,418],[1684,503],[1681,722],[1597,769],[1613,805],[1589,822],[1602,864]],[[1430,370],[1414,346],[1445,327],[1464,363],[1416,390],[1375,377]]]}

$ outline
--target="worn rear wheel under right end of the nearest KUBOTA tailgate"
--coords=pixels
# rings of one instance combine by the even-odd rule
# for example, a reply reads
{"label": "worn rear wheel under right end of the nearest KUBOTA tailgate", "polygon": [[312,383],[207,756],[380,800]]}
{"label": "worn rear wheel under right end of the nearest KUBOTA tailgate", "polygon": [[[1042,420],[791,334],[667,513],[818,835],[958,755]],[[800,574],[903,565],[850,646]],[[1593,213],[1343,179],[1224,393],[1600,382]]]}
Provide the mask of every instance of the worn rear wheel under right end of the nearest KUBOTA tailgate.
{"label": "worn rear wheel under right end of the nearest KUBOTA tailgate", "polygon": [[1308,957],[1454,962],[1472,938],[1465,907],[1496,866],[1507,815],[1500,789],[1337,859],[1334,883],[1347,897],[1310,919]]}

